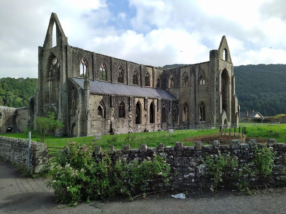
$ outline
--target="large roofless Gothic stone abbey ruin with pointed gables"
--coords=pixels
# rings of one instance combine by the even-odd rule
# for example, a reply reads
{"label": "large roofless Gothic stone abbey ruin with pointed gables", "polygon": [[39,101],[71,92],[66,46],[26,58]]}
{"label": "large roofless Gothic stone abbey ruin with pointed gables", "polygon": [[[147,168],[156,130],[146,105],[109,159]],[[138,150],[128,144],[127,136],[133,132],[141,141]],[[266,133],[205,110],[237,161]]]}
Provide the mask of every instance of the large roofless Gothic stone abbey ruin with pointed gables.
{"label": "large roofless Gothic stone abbey ruin with pointed gables", "polygon": [[141,132],[239,120],[225,36],[219,49],[210,51],[207,62],[158,68],[70,46],[52,13],[39,47],[38,80],[39,88],[30,98],[29,121],[55,112],[64,124],[57,130],[59,135]]}

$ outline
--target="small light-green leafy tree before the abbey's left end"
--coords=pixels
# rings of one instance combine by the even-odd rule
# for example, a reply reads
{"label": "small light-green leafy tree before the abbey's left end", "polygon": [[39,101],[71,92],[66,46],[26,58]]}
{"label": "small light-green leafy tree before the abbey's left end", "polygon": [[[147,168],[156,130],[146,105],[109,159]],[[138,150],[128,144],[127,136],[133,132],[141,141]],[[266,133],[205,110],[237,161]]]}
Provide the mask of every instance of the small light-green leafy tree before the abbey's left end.
{"label": "small light-green leafy tree before the abbey's left end", "polygon": [[[54,130],[63,128],[60,120],[56,119],[55,112],[48,112],[47,117],[36,117],[34,120],[33,136],[41,136],[41,143],[44,143],[45,137],[51,134]],[[25,132],[28,132],[27,127]]]}

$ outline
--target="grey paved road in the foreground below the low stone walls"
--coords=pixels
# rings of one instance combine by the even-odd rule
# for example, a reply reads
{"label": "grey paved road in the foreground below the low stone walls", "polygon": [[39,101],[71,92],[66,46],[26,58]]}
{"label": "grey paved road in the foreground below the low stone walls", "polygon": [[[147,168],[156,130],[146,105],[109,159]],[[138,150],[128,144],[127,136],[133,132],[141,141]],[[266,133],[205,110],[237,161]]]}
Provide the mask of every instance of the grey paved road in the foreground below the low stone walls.
{"label": "grey paved road in the foreground below the low stone walls", "polygon": [[[44,179],[20,177],[9,162],[0,160],[0,213],[21,214],[111,214],[111,213],[194,213],[194,214],[286,214],[286,190],[256,191],[253,196],[238,193],[189,193],[186,199],[174,199],[170,193],[149,199],[99,201],[87,206],[62,208],[53,202],[53,192]],[[96,201],[92,201],[96,202]],[[62,209],[59,209],[61,207]]]}

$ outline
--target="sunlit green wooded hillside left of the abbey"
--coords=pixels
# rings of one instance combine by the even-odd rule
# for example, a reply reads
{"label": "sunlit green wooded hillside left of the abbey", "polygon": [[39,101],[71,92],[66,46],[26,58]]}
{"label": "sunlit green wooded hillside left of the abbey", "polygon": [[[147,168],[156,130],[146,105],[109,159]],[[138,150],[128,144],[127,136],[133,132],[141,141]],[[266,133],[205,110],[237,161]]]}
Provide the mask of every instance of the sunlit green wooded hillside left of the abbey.
{"label": "sunlit green wooded hillside left of the abbey", "polygon": [[1,78],[0,105],[19,108],[29,105],[29,98],[38,88],[37,78]]}

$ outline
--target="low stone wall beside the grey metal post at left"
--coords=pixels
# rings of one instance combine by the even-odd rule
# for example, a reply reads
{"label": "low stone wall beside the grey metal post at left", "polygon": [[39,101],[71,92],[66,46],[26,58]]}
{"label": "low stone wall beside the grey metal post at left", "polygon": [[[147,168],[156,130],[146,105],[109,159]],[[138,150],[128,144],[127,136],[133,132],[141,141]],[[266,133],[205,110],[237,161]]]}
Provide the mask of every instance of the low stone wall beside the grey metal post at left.
{"label": "low stone wall beside the grey metal post at left", "polygon": [[[47,144],[31,141],[31,172],[39,173],[48,162]],[[28,140],[0,136],[0,157],[28,166]]]}

